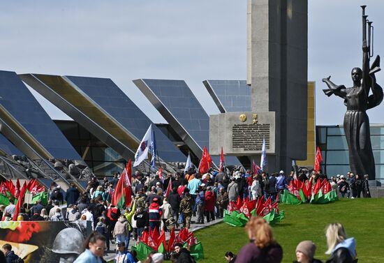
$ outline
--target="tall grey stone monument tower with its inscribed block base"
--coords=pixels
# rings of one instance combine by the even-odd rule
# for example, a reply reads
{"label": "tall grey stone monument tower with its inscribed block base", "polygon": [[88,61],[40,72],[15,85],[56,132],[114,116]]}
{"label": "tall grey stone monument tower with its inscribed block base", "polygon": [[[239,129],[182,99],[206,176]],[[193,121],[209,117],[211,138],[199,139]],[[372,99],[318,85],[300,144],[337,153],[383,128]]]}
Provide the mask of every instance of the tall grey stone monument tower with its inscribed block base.
{"label": "tall grey stone monument tower with its inscribed block base", "polygon": [[307,13],[304,0],[248,0],[252,112],[211,115],[210,153],[259,162],[265,138],[268,172],[307,158]]}

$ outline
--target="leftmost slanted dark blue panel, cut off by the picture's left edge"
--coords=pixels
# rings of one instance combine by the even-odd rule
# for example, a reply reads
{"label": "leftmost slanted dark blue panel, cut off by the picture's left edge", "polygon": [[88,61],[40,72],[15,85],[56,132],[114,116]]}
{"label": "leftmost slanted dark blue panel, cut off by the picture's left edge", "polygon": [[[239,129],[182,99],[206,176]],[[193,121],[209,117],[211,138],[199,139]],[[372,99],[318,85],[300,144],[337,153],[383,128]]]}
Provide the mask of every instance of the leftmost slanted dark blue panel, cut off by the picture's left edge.
{"label": "leftmost slanted dark blue panel, cut off by the picture's left edge", "polygon": [[0,70],[0,103],[54,158],[81,159],[14,72]]}

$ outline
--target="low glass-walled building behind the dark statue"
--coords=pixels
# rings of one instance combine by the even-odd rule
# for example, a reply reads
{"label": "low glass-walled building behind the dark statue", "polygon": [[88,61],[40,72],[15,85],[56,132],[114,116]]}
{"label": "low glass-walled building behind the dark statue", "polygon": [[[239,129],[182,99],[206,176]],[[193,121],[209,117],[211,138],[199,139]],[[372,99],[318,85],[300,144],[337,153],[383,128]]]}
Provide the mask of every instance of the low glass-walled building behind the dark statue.
{"label": "low glass-walled building behind the dark statue", "polygon": [[[316,126],[316,144],[328,177],[349,171],[348,144],[343,126]],[[384,183],[384,124],[371,124],[371,144],[376,165],[376,180]]]}

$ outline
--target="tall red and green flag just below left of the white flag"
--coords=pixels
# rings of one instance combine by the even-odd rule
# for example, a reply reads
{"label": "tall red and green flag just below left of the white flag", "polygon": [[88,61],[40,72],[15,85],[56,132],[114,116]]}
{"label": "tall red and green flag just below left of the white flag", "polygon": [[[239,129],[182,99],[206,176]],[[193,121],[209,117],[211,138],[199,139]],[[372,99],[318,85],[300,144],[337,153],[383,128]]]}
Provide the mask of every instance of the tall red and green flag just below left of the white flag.
{"label": "tall red and green flag just below left of the white flag", "polygon": [[131,174],[131,159],[128,160],[126,168],[121,173],[119,182],[117,183],[111,200],[111,204],[119,209],[123,209],[124,207],[131,205],[132,189],[131,181],[129,181],[129,174]]}

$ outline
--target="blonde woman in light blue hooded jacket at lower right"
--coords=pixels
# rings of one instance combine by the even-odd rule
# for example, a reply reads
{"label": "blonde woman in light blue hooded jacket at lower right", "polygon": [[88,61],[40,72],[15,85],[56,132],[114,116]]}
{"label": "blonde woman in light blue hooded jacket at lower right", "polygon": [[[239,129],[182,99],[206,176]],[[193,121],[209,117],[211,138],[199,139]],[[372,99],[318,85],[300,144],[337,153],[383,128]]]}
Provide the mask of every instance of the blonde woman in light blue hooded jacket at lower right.
{"label": "blonde woman in light blue hooded jacket at lower right", "polygon": [[354,263],[356,257],[356,243],[353,237],[347,239],[346,230],[340,223],[328,225],[325,231],[328,250],[325,254],[331,257],[327,263]]}

